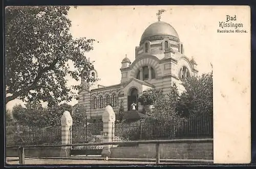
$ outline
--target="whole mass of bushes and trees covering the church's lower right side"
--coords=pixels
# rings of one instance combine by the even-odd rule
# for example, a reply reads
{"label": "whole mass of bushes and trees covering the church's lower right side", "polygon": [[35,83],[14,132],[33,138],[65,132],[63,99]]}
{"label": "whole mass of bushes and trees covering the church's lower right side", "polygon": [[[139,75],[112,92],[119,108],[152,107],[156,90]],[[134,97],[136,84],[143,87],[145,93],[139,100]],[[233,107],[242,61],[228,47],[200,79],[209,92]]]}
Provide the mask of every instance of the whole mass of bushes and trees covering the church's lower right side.
{"label": "whole mass of bushes and trees covering the church's lower right side", "polygon": [[153,105],[153,111],[147,115],[161,122],[182,121],[190,116],[213,114],[212,72],[202,76],[192,76],[183,82],[184,92],[179,94],[174,83],[170,92],[163,95],[161,90],[143,92],[139,101],[145,105]]}

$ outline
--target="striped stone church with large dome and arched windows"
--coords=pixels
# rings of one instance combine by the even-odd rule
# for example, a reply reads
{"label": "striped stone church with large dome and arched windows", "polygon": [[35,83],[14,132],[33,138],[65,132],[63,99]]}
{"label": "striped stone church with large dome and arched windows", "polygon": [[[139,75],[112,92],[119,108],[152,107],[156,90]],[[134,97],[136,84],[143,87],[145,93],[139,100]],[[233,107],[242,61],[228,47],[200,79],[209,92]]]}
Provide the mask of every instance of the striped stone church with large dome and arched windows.
{"label": "striped stone church with large dome and arched windows", "polygon": [[[170,92],[172,83],[180,91],[184,90],[182,80],[196,76],[195,60],[184,54],[184,46],[174,27],[158,21],[147,27],[135,47],[134,61],[126,56],[120,64],[120,83],[101,86],[97,82],[89,87],[86,80],[81,85],[88,86],[79,91],[78,104],[86,106],[86,113],[91,119],[101,119],[105,106],[111,105],[118,117],[119,107],[124,107],[123,114],[131,112],[132,104],[136,110],[140,106],[137,98],[148,89],[161,89],[164,94]],[[98,77],[97,71],[92,76]],[[138,112],[139,113],[139,112]],[[140,113],[139,113],[140,114]]]}

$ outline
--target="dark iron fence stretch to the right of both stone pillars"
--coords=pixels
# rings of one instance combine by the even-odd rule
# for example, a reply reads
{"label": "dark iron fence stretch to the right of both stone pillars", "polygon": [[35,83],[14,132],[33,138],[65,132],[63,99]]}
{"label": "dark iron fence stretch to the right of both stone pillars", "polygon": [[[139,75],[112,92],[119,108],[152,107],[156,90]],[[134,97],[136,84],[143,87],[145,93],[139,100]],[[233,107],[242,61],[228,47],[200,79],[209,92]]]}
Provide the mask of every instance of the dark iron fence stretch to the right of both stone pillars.
{"label": "dark iron fence stretch to the right of both stone pillars", "polygon": [[138,121],[132,124],[113,124],[115,134],[113,142],[125,140],[152,140],[152,139],[184,139],[184,138],[212,138],[213,117],[202,115],[196,118],[184,119],[165,123],[156,121]]}

